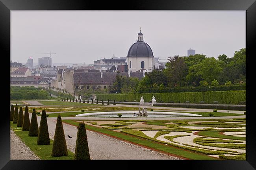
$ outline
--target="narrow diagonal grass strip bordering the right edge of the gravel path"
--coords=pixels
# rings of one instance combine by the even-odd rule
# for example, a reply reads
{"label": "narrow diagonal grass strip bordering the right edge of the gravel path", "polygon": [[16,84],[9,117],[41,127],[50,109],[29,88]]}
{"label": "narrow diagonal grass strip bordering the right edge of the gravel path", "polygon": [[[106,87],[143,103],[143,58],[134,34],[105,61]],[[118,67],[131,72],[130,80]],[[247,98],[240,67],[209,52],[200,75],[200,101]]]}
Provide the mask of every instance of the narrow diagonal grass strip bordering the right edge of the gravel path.
{"label": "narrow diagonal grass strip bordering the right edge of the gravel path", "polygon": [[[73,120],[62,120],[63,122],[67,122],[69,124],[78,126],[79,122],[73,121]],[[95,126],[90,126],[85,124],[86,129],[93,130],[93,131],[98,131],[100,133],[104,133],[107,135],[111,135],[113,137],[117,137],[122,140],[127,140],[130,142],[134,142],[136,144],[140,144],[143,146],[147,146],[149,148],[154,148],[156,150],[160,150],[163,152],[171,153],[174,155],[178,155],[187,159],[192,159],[192,160],[219,160],[219,158],[215,157],[210,157],[208,155],[200,154],[197,152],[191,152],[191,151],[186,151],[180,148],[176,148],[173,146],[167,146],[165,144],[160,144],[159,142],[154,142],[152,140],[147,140],[147,139],[142,139],[139,137],[134,137],[131,135],[126,135],[125,133],[120,133],[116,131],[112,131],[109,129],[104,129],[100,127],[95,127]]]}

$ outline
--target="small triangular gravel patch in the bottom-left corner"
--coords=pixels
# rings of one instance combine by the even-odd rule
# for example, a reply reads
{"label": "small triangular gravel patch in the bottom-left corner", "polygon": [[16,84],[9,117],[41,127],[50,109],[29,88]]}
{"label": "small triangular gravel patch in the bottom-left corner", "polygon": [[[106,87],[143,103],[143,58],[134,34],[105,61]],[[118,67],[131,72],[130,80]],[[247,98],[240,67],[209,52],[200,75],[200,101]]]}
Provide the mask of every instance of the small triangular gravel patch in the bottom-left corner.
{"label": "small triangular gravel patch in the bottom-left corner", "polygon": [[40,160],[22,140],[10,129],[10,159],[11,160]]}

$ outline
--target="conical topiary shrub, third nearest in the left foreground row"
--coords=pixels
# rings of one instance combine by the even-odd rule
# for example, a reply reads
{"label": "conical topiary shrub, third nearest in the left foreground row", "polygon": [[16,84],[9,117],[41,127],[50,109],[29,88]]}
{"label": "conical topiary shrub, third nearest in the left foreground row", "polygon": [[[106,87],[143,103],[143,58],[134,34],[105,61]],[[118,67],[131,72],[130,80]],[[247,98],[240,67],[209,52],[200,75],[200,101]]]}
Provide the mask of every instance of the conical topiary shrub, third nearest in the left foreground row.
{"label": "conical topiary shrub, third nearest in the left foreground row", "polygon": [[38,132],[38,138],[37,138],[37,144],[38,145],[50,144],[50,137],[49,137],[49,132],[48,132],[48,124],[47,124],[45,110],[42,111],[39,132]]}

